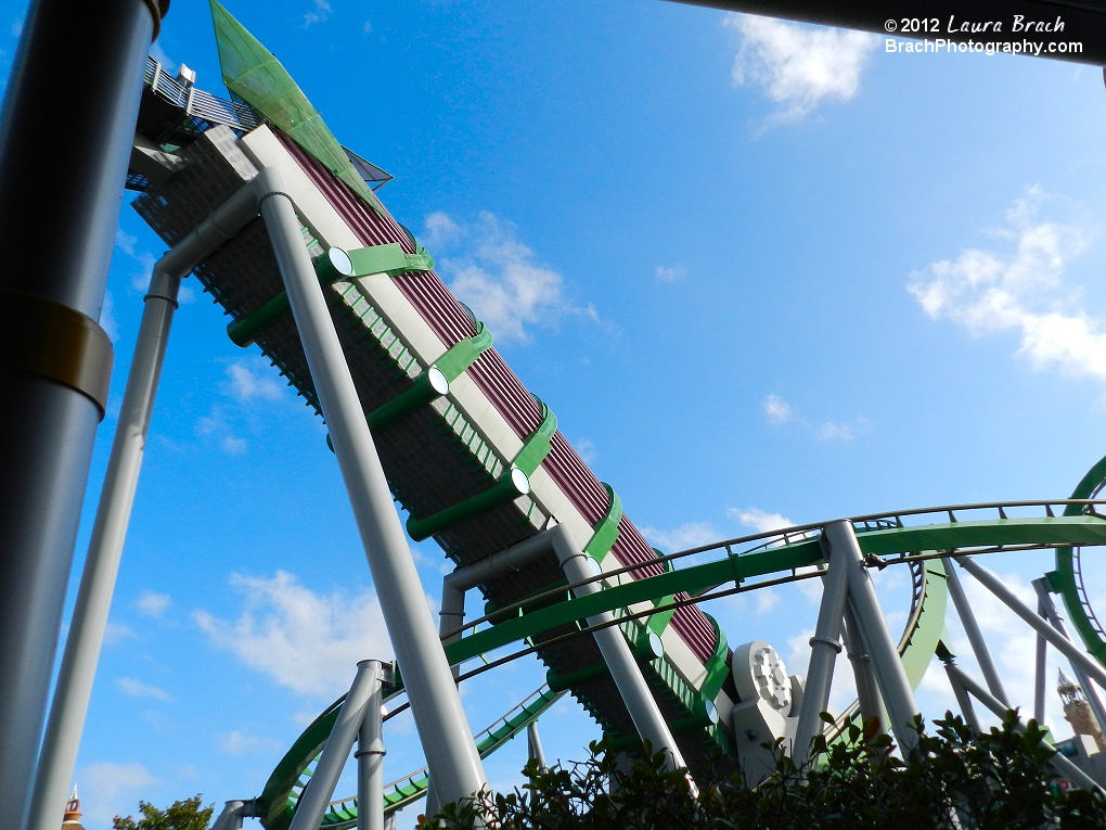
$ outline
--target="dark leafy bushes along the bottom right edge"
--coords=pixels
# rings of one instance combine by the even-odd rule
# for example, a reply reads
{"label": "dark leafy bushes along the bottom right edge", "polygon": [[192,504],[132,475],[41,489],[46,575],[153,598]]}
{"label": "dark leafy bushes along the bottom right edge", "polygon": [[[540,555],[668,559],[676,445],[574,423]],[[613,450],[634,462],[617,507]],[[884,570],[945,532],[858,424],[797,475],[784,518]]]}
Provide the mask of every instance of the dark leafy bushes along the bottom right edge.
{"label": "dark leafy bushes along the bottom right edge", "polygon": [[[775,770],[758,786],[740,774],[697,770],[693,793],[684,771],[665,768],[645,746],[630,766],[602,744],[587,761],[540,770],[509,793],[449,805],[421,828],[468,830],[1008,830],[1106,827],[1100,792],[1064,792],[1046,761],[1045,730],[1016,714],[977,734],[951,713],[927,734],[919,720],[918,751],[890,753],[886,735],[865,741],[859,727],[827,745],[815,740],[817,762],[800,769],[775,749]],[[435,823],[440,822],[440,823]]]}

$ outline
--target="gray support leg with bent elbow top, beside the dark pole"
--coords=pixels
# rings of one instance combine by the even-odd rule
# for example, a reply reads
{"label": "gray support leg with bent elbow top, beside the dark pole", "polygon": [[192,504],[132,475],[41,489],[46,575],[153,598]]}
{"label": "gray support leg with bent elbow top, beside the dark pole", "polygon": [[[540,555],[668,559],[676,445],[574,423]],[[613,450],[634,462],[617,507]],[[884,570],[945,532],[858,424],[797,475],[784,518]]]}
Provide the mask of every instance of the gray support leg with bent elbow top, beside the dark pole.
{"label": "gray support leg with bent elbow top, beside the dark pole", "polygon": [[180,279],[255,217],[257,198],[253,187],[247,186],[154,266],[39,756],[29,812],[34,830],[58,830],[65,810],[65,793],[73,779],[104,642]]}

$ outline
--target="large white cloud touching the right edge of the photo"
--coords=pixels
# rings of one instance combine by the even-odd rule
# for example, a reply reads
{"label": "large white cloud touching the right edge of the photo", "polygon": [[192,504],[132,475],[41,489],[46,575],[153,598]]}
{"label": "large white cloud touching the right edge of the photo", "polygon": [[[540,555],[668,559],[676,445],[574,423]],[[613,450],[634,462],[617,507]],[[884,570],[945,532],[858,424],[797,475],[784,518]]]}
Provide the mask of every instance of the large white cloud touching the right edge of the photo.
{"label": "large white cloud touching the right edge of the photo", "polygon": [[1047,198],[1033,186],[1006,211],[997,231],[1010,243],[1005,252],[970,248],[954,260],[931,262],[911,274],[907,290],[930,318],[950,320],[972,336],[1016,333],[1016,355],[1035,371],[1106,381],[1106,321],[1081,308],[1084,293],[1063,280],[1087,234],[1039,219]]}

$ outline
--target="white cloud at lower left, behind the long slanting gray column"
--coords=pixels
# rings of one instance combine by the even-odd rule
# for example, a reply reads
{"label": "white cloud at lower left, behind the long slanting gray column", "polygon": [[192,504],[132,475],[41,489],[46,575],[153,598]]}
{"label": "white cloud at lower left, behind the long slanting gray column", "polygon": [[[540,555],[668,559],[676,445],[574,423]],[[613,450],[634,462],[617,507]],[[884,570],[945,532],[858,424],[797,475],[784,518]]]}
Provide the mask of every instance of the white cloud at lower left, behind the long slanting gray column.
{"label": "white cloud at lower left, behind the long slanting gray column", "polygon": [[271,579],[234,573],[230,584],[244,598],[238,619],[207,611],[192,619],[215,645],[293,692],[337,696],[348,688],[358,660],[392,657],[380,605],[371,591],[317,594],[285,571]]}

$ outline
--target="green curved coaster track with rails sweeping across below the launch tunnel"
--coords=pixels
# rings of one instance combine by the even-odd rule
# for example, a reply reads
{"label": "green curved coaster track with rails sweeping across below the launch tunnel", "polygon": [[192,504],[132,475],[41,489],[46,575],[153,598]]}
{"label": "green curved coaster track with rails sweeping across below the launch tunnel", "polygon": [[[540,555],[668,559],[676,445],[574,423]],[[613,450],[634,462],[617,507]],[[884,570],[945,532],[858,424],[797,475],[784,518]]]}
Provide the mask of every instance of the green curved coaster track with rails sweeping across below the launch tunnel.
{"label": "green curved coaster track with rails sweeping across below the launch tunnel", "polygon": [[[1087,499],[989,502],[853,518],[857,540],[866,554],[879,556],[887,564],[907,564],[910,568],[910,613],[898,644],[910,685],[917,687],[921,682],[945,632],[947,593],[945,566],[941,561],[945,556],[1039,549],[1056,549],[1060,552],[1072,546],[1106,544],[1106,518],[1088,512],[1104,505],[1106,501]],[[1056,516],[1057,509],[1065,515]],[[1040,515],[1010,517],[1011,512],[1027,511]],[[943,521],[935,521],[937,518]],[[448,646],[446,652],[450,656],[450,662],[458,663],[513,642],[524,641],[552,624],[580,623],[598,610],[626,609],[641,601],[643,596],[670,599],[674,594],[685,591],[691,594],[689,601],[706,602],[733,593],[818,577],[825,567],[820,541],[823,525],[824,522],[803,525],[674,553],[664,557],[664,560],[676,562],[692,557],[700,560],[711,553],[717,558],[687,568],[672,569],[659,577],[607,588],[598,594],[563,601],[531,613],[525,613],[523,609],[526,604],[543,599],[542,595],[531,598],[529,603],[498,609],[491,619],[507,616],[508,622],[471,634]],[[609,571],[596,579],[612,579],[618,575],[617,571]],[[733,588],[722,588],[730,583]],[[550,592],[550,596],[555,595],[563,595],[563,590]],[[512,611],[519,611],[521,615],[512,618],[510,616]],[[654,606],[654,613],[661,611],[664,605]],[[626,616],[633,615],[626,614]],[[488,618],[477,620],[466,627],[476,627],[488,621]],[[589,630],[586,627],[576,631],[573,636],[581,636],[587,631]],[[528,647],[514,652],[462,677],[487,671],[489,667],[493,668],[532,651],[533,649]],[[528,702],[531,699],[533,696],[528,698]],[[487,738],[482,738],[482,753],[486,744],[489,747],[488,753],[493,751],[509,737],[523,729],[530,720],[536,719],[541,713],[532,706],[528,712],[528,702],[523,702],[520,707],[497,722],[504,725],[510,723],[510,735],[499,740],[494,747]],[[310,777],[303,774],[310,769],[322,749],[336,717],[338,703],[332,705],[309,727],[270,778],[264,793],[259,799],[259,805],[269,817],[263,822],[269,830],[281,830],[291,821],[299,792]],[[552,701],[549,705],[552,705]],[[856,715],[857,709],[854,704],[838,718],[837,726],[830,737],[839,734]],[[487,730],[481,733],[481,736],[486,734]],[[419,770],[394,782],[386,796],[385,809],[389,811],[398,809],[420,797],[425,787],[425,778],[421,775],[422,770]],[[334,802],[334,809],[327,815],[323,826],[347,827],[355,821],[355,799],[344,799]]]}

